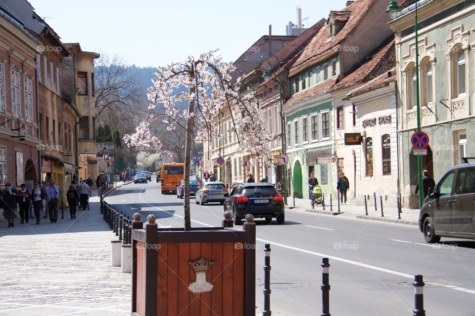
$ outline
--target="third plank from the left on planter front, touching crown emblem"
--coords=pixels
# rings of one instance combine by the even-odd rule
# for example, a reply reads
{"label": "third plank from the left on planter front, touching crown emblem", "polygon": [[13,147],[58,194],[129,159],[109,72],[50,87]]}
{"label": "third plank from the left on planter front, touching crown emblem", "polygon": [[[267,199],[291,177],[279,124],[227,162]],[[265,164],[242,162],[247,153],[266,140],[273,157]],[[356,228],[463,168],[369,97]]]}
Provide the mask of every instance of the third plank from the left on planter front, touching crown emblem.
{"label": "third plank from the left on planter front, touching crown emblem", "polygon": [[190,313],[190,243],[178,243],[178,315],[188,316]]}

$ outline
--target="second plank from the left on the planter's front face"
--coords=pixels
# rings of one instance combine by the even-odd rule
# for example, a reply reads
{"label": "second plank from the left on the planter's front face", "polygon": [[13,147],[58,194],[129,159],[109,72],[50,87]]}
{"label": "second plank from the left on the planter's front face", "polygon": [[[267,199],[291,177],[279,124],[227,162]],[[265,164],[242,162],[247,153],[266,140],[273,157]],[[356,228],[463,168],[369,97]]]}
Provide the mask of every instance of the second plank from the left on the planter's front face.
{"label": "second plank from the left on the planter's front face", "polygon": [[178,315],[178,243],[168,244],[167,315]]}

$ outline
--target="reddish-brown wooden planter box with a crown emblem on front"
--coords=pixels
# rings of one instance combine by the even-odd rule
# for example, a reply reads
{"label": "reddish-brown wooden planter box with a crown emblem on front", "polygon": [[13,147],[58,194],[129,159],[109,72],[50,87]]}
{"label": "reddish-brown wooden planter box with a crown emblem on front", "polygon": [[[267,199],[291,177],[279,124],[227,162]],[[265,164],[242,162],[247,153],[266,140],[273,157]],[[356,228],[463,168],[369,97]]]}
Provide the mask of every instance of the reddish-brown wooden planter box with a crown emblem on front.
{"label": "reddish-brown wooden planter box with a crown emblem on front", "polygon": [[[137,217],[136,217],[137,215]],[[155,216],[148,223],[134,215],[132,231],[132,315],[197,316],[255,315],[255,242],[252,216],[243,230],[232,221],[223,227],[158,229]],[[211,291],[193,293],[196,281],[190,262],[212,262],[206,272]]]}

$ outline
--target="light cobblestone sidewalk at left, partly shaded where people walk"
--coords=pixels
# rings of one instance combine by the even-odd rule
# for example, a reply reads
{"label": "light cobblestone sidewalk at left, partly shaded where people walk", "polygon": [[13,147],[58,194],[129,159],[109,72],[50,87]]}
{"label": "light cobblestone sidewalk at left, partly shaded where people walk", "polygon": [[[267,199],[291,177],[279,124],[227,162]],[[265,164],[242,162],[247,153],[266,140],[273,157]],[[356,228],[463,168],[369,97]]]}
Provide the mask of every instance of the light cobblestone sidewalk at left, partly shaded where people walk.
{"label": "light cobblestone sidewalk at left, partly shaded where people walk", "polygon": [[65,209],[54,224],[0,222],[0,316],[130,315],[131,275],[110,265],[116,237],[98,197],[76,217]]}

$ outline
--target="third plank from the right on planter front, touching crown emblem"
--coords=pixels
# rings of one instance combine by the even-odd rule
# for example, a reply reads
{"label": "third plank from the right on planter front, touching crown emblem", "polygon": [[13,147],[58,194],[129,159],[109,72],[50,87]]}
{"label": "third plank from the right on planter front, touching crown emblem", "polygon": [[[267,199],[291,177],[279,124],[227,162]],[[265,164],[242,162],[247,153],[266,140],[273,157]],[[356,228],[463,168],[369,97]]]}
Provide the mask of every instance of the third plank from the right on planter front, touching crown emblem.
{"label": "third plank from the right on planter front, touching crown emblem", "polygon": [[223,244],[221,242],[213,242],[211,249],[214,261],[211,267],[210,281],[213,283],[211,310],[213,315],[223,315]]}

